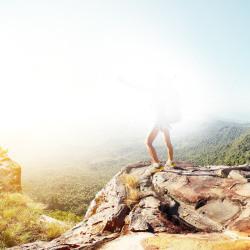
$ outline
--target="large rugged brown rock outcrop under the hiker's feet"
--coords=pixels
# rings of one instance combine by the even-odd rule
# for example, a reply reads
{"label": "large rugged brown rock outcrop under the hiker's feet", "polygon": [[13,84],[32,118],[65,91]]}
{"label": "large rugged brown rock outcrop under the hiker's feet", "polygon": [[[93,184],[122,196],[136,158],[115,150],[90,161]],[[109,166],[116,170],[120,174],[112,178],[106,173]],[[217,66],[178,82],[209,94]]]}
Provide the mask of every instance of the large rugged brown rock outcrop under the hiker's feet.
{"label": "large rugged brown rock outcrop under the hiker's feet", "polygon": [[176,165],[124,167],[77,226],[13,249],[250,249],[250,166]]}

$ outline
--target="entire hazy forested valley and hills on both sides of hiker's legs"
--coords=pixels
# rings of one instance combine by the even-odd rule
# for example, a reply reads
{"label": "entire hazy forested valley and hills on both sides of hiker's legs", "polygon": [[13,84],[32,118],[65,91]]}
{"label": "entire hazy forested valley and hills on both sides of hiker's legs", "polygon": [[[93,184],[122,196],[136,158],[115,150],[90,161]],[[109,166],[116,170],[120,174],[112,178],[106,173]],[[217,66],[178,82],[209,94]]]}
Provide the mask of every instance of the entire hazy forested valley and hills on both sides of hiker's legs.
{"label": "entire hazy forested valley and hills on both sides of hiker's legs", "polygon": [[[199,165],[250,163],[250,124],[207,122],[195,132],[173,139],[174,160]],[[161,160],[167,151],[161,140],[155,147]],[[86,152],[85,152],[86,153]],[[88,157],[64,165],[45,166],[24,175],[26,192],[47,204],[49,210],[83,216],[95,194],[124,166],[150,160],[144,138],[114,140],[90,150]]]}

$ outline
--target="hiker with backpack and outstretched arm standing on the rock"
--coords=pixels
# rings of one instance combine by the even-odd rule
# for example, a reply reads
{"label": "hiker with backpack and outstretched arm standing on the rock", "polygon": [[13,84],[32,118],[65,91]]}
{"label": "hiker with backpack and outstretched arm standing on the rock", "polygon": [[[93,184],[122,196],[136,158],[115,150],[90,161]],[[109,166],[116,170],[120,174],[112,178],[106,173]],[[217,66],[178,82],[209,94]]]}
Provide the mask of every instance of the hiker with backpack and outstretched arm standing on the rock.
{"label": "hiker with backpack and outstretched arm standing on the rock", "polygon": [[[156,84],[152,87],[142,87],[136,84],[125,81],[122,77],[118,77],[118,80],[123,84],[147,92],[152,97],[152,106],[154,111],[154,122],[146,137],[145,146],[149,155],[153,159],[153,166],[148,171],[149,173],[156,173],[164,170],[164,166],[159,162],[156,150],[153,146],[153,142],[158,135],[159,131],[162,132],[164,142],[168,150],[168,161],[165,164],[165,168],[175,167],[173,163],[173,146],[170,140],[170,123],[178,122],[180,120],[180,110],[178,105],[173,105],[176,100],[176,95],[173,94],[173,90],[169,88],[169,83],[172,82],[176,76],[169,82],[165,82],[162,77],[159,77]],[[171,98],[174,96],[174,100]],[[171,100],[172,99],[172,100]]]}

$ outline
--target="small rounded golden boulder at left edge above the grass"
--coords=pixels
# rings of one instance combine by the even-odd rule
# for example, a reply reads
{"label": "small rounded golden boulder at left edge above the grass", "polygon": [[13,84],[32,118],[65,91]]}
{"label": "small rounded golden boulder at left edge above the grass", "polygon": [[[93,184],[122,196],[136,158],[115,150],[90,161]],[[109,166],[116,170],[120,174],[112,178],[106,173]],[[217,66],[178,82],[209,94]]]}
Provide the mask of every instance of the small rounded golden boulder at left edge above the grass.
{"label": "small rounded golden boulder at left edge above the grass", "polygon": [[0,157],[0,192],[16,192],[21,189],[21,167],[8,157]]}

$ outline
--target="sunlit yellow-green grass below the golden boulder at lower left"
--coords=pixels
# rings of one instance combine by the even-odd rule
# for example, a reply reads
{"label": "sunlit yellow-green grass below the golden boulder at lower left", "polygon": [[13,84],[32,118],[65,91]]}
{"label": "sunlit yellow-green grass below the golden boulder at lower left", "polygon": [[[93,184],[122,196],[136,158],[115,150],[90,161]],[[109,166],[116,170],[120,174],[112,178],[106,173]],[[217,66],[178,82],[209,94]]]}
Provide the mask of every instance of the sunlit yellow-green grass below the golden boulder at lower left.
{"label": "sunlit yellow-green grass below the golden boulder at lower left", "polygon": [[52,240],[73,225],[41,220],[43,205],[21,193],[0,194],[0,246],[13,247],[36,240]]}

